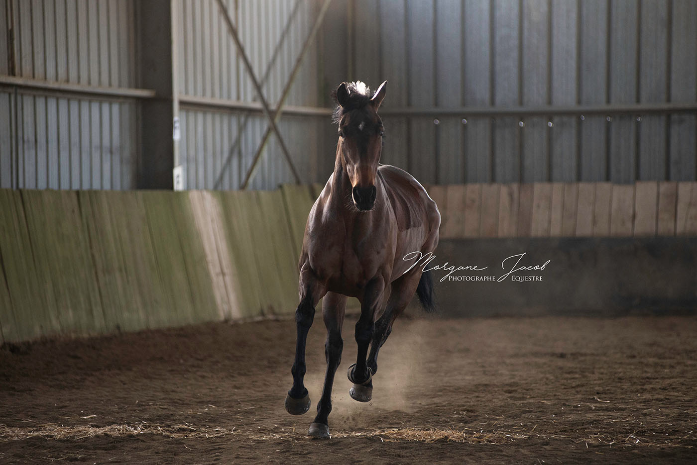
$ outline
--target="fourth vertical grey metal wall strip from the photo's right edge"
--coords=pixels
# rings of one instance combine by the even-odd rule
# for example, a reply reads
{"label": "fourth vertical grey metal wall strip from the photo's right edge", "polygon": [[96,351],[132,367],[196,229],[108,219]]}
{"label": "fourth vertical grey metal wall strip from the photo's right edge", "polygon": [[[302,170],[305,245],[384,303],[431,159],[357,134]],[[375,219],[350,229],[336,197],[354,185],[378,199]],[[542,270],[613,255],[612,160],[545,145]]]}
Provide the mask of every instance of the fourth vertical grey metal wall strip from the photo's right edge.
{"label": "fourth vertical grey metal wall strip from the photo's right edge", "polygon": [[[603,104],[606,103],[608,77],[608,4],[606,0],[581,1],[579,8],[579,103]],[[580,179],[583,181],[604,181],[608,177],[606,125],[604,116],[584,116],[580,123]]]}

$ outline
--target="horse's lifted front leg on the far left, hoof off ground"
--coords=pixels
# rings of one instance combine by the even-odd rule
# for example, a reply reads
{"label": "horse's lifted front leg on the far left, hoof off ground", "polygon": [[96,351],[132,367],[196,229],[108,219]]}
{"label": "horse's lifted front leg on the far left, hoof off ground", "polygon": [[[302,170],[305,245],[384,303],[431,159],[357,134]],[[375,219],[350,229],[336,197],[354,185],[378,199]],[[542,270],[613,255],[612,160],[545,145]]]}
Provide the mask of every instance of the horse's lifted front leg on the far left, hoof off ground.
{"label": "horse's lifted front leg on the far left, hoof off ground", "polygon": [[324,287],[317,281],[309,267],[302,267],[300,271],[300,304],[296,309],[296,358],[293,361],[293,387],[286,395],[286,411],[291,415],[302,415],[309,410],[310,400],[304,379],[305,371],[305,344],[307,333],[312,320],[314,320],[314,308],[324,294]]}

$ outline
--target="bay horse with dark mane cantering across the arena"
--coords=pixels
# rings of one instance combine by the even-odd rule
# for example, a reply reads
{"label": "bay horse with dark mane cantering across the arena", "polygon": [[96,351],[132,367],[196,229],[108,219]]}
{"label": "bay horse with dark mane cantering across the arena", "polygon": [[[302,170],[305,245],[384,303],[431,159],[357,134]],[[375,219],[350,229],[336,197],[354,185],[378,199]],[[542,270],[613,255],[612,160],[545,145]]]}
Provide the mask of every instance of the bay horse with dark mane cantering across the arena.
{"label": "bay horse with dark mane cantering across the arena", "polygon": [[414,293],[427,312],[434,311],[429,272],[410,265],[405,255],[434,252],[441,214],[413,176],[378,163],[384,135],[378,108],[385,98],[385,84],[373,95],[360,81],[344,82],[332,92],[337,102],[332,120],[339,127],[334,172],[309,213],[302,240],[293,387],[285,407],[293,415],[309,409],[309,395],[303,384],[305,342],[314,308],[324,297],[327,371],[317,416],[307,432],[315,438],[330,437],[328,416],[334,375],[344,346],[346,299],[356,297],[360,301],[360,318],[355,324],[358,359],[348,368],[348,379],[353,383],[349,394],[359,402],[372,399],[378,351]]}

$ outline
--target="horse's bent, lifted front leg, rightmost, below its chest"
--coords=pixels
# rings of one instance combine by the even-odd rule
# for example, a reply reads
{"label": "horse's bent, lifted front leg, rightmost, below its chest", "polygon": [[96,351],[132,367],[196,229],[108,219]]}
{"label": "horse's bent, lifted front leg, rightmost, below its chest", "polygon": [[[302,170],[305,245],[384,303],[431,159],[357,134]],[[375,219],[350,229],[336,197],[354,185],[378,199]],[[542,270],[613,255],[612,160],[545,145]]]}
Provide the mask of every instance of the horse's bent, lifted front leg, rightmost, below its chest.
{"label": "horse's bent, lifted front leg, rightmost, below its chest", "polygon": [[353,383],[348,394],[358,402],[369,402],[373,396],[371,381],[373,373],[368,368],[365,358],[375,331],[375,313],[382,301],[384,290],[385,281],[381,277],[368,283],[360,303],[360,318],[355,324],[355,342],[358,345],[358,355],[355,364],[348,367],[348,380]]}

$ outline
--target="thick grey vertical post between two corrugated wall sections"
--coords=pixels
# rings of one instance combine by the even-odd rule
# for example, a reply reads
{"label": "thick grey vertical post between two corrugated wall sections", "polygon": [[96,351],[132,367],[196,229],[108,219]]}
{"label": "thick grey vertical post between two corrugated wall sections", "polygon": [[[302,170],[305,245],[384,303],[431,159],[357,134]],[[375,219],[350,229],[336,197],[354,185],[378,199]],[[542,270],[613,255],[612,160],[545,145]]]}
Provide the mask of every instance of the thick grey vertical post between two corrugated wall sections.
{"label": "thick grey vertical post between two corrugated wall sections", "polygon": [[154,99],[141,102],[138,189],[172,189],[176,107],[174,88],[173,0],[135,2],[138,70],[141,88],[154,89]]}

